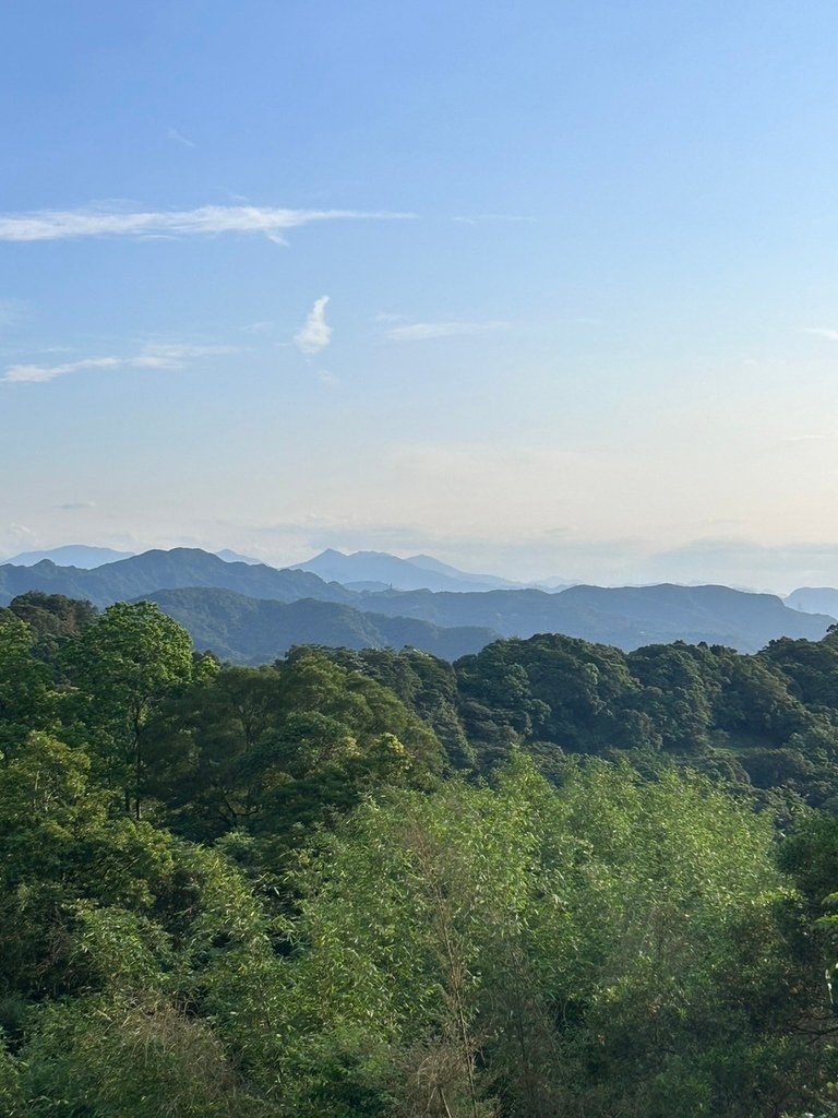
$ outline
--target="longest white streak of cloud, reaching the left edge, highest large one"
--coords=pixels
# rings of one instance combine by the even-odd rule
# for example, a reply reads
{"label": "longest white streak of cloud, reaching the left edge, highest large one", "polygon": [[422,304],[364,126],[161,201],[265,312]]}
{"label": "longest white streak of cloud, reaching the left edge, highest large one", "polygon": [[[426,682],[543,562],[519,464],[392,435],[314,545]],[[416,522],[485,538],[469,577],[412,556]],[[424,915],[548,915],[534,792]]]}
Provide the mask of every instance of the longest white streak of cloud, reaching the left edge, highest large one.
{"label": "longest white streak of cloud, reaching the left edge, highest large one", "polygon": [[78,237],[194,237],[259,233],[280,239],[288,229],[318,221],[387,221],[413,214],[362,210],[279,209],[267,206],[201,206],[191,210],[37,210],[0,214],[0,240],[67,240]]}

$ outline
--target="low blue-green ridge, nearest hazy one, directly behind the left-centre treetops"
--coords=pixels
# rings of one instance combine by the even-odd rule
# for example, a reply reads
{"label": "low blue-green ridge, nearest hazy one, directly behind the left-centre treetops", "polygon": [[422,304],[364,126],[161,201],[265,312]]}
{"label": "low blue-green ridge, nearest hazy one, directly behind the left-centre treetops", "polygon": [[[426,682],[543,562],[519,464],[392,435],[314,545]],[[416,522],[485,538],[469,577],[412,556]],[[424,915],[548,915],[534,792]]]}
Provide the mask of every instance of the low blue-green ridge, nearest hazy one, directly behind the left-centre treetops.
{"label": "low blue-green ridge, nearest hazy one, directly behind the left-centre treetops", "polygon": [[410,645],[444,660],[457,660],[497,638],[492,629],[442,628],[312,598],[284,604],[204,588],[156,590],[144,598],[156,601],[180,622],[197,648],[210,648],[223,660],[245,664],[268,663],[295,644],[355,650]]}

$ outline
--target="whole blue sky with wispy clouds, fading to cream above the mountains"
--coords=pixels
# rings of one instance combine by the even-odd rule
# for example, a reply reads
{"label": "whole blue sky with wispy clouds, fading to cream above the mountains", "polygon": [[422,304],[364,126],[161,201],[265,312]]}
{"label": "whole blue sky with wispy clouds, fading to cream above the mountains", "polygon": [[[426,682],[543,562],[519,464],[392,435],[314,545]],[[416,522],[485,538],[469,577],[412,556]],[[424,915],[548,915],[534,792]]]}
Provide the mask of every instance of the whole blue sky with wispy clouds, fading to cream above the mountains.
{"label": "whole blue sky with wispy clouds, fading to cream above the mountains", "polygon": [[838,585],[834,0],[0,29],[0,556]]}

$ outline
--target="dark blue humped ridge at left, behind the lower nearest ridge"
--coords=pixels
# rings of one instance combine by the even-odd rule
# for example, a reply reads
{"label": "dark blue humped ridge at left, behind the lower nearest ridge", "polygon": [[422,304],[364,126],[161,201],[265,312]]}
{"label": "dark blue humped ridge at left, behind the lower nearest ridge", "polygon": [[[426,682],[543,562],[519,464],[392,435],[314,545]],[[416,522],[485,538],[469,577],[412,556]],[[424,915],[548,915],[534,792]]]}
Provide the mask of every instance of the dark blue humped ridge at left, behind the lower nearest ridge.
{"label": "dark blue humped ridge at left, behind the lower nearest ridge", "polygon": [[94,605],[107,606],[112,601],[143,597],[152,590],[185,586],[237,590],[276,601],[295,601],[297,598],[351,601],[355,598],[351,590],[336,584],[326,585],[316,575],[306,571],[225,562],[198,548],[145,551],[95,570],[57,567],[46,559],[34,567],[0,567],[0,605],[26,590],[44,590],[66,594],[70,598],[87,598]]}

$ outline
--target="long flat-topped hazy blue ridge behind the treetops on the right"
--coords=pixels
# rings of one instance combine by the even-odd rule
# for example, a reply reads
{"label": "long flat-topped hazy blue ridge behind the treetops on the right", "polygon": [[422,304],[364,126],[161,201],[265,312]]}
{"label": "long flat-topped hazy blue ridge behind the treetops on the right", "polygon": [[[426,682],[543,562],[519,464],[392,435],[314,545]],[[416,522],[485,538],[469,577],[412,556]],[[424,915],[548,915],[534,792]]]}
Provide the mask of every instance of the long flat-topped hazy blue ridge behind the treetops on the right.
{"label": "long flat-topped hazy blue ridge behind the treetops on the right", "polygon": [[687,641],[755,652],[780,636],[818,641],[832,618],[788,608],[771,594],[724,586],[574,586],[560,593],[492,590],[430,594],[427,590],[362,595],[361,608],[399,614],[437,625],[477,625],[504,636],[563,633],[631,650]]}

